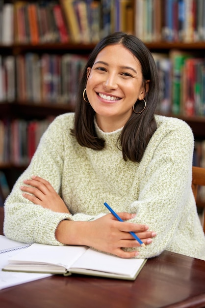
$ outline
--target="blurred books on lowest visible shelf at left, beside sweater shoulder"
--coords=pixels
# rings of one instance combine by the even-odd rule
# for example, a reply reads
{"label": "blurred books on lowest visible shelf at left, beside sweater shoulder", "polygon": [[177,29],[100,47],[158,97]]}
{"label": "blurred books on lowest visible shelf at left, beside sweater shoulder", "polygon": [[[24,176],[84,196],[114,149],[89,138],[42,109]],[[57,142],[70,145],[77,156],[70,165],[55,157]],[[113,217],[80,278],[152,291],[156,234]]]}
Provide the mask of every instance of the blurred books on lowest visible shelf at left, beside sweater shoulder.
{"label": "blurred books on lowest visible shelf at left, beside sweater shoulder", "polygon": [[0,164],[26,166],[52,120],[0,120]]}

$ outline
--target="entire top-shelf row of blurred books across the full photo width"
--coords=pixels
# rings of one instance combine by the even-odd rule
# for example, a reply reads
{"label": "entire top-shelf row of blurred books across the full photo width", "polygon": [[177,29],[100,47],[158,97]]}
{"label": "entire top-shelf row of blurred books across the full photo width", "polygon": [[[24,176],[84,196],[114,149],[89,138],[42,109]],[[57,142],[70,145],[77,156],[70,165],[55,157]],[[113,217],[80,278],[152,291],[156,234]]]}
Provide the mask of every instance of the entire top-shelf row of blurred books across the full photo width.
{"label": "entire top-shelf row of blurred books across the full photo width", "polygon": [[0,24],[2,44],[96,43],[113,31],[145,42],[205,41],[205,1],[0,0]]}

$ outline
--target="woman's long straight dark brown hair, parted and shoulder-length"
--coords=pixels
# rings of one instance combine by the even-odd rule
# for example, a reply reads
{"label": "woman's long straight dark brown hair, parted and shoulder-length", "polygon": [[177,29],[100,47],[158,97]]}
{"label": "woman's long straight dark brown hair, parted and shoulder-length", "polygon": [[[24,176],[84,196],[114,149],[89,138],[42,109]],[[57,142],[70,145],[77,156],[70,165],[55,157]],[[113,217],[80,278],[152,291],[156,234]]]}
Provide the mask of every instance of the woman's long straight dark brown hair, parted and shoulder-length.
{"label": "woman's long straight dark brown hair, parted and shoulder-length", "polygon": [[[93,49],[79,83],[74,129],[71,130],[71,133],[83,147],[98,151],[104,148],[105,141],[97,136],[94,126],[95,111],[89,103],[84,101],[82,93],[86,88],[87,68],[93,66],[96,57],[104,47],[112,44],[122,44],[126,47],[140,62],[144,83],[150,80],[149,89],[145,97],[145,110],[141,114],[132,112],[128,122],[123,127],[119,140],[124,160],[129,159],[133,162],[140,162],[148,142],[156,130],[154,111],[158,101],[159,81],[151,52],[134,35],[124,32],[112,33],[104,37]],[[134,108],[136,112],[140,112],[144,108],[144,101],[137,102]]]}

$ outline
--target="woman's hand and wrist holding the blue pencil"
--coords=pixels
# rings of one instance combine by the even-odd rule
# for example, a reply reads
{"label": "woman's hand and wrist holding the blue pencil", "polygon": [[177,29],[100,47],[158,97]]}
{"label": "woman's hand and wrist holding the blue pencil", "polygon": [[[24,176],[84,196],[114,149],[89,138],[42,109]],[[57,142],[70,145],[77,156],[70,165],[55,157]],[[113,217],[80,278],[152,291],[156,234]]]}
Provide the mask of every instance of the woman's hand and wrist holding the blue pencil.
{"label": "woman's hand and wrist holding the blue pencil", "polygon": [[[116,220],[112,214],[93,221],[63,220],[56,229],[56,239],[67,245],[91,246],[123,258],[135,257],[139,254],[137,248],[140,244],[129,232],[133,231],[145,245],[152,243],[156,233],[148,231],[147,225],[126,222],[125,220],[134,217],[133,214],[118,213],[118,215],[124,222]],[[123,248],[132,248],[132,251]]]}

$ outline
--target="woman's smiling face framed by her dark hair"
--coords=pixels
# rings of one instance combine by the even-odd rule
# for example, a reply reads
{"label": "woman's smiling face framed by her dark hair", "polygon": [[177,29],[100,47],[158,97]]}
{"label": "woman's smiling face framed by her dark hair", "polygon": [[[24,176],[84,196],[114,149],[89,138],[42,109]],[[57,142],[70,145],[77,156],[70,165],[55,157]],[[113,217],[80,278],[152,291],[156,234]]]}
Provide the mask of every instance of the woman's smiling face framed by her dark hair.
{"label": "woman's smiling face framed by her dark hair", "polygon": [[143,80],[140,62],[122,44],[99,52],[93,66],[87,68],[86,92],[104,132],[128,122],[135,102],[145,98],[145,85],[148,81]]}

